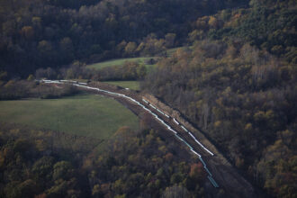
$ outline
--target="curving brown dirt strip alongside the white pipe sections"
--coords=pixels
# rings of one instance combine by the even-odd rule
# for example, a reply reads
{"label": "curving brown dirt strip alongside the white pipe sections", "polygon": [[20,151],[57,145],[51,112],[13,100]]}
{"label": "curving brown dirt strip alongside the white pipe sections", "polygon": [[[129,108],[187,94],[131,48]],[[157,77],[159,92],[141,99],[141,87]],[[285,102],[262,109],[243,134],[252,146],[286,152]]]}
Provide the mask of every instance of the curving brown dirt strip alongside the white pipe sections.
{"label": "curving brown dirt strip alongside the white pipe sections", "polygon": [[[142,99],[145,98],[149,103],[152,103],[159,110],[161,110],[162,112],[166,112],[166,114],[170,115],[170,118],[167,118],[163,114],[151,108],[147,103],[142,102],[142,104],[146,105],[146,107],[151,112],[154,112],[163,121],[166,121],[166,123],[172,129],[176,130],[178,134],[194,148],[194,150],[196,150],[199,154],[202,155],[202,158],[205,161],[207,167],[209,168],[212,177],[220,186],[219,188],[215,188],[211,185],[211,182],[208,181],[205,183],[204,188],[208,193],[210,193],[210,197],[257,197],[257,194],[255,193],[253,186],[249,184],[243,176],[238,174],[238,171],[230,165],[228,160],[220,154],[217,148],[213,144],[211,144],[211,142],[208,139],[206,139],[206,137],[202,134],[200,130],[195,129],[193,125],[186,121],[176,110],[170,108],[165,103],[158,101],[157,98],[155,98],[153,95],[142,95],[131,90],[123,89],[119,86],[107,85],[99,82],[88,84],[88,86],[97,87],[114,93],[125,94],[138,102],[141,102]],[[92,92],[95,94],[103,94],[108,97],[112,97],[115,100],[122,103],[123,105],[125,105],[138,116],[146,113],[146,111],[144,111],[139,105],[137,105],[136,103],[132,103],[130,100],[123,98],[121,96],[105,94],[93,90],[89,90],[88,92]],[[156,120],[152,115],[149,114],[148,116],[151,116],[153,120]],[[183,124],[187,129],[191,130],[193,132],[193,135],[197,139],[199,139],[206,148],[209,148],[211,152],[214,153],[214,156],[211,156],[209,153],[203,150],[193,140],[193,138],[190,137],[190,135],[187,132],[181,129],[180,125],[177,125],[175,121],[173,121],[173,118],[175,118],[178,122]],[[164,127],[159,121],[156,120],[156,123],[159,125],[159,128],[167,131],[171,137],[173,136],[172,132],[170,130],[167,130],[166,127]],[[190,151],[190,149],[188,150]],[[220,195],[220,189],[223,189],[225,193]]]}

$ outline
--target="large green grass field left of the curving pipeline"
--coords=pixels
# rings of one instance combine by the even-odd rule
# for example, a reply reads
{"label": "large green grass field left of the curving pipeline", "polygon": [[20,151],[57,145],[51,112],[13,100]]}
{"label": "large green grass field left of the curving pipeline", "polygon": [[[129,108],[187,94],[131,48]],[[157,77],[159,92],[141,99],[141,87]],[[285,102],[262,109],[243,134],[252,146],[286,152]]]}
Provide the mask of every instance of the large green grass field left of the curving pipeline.
{"label": "large green grass field left of the curving pipeline", "polygon": [[0,110],[0,121],[98,139],[110,139],[121,126],[139,128],[135,114],[102,95],[0,101]]}

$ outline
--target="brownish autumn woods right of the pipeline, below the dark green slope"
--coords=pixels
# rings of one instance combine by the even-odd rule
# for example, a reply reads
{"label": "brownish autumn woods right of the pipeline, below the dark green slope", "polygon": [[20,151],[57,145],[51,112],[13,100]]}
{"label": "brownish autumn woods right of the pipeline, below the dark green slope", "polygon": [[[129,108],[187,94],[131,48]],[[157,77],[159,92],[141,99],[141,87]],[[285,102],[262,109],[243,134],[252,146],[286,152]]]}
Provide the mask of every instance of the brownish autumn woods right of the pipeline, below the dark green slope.
{"label": "brownish autumn woods right of the pipeline, below the dark green slope", "polygon": [[[183,112],[278,197],[296,194],[296,67],[247,44],[204,40],[158,63],[142,88]],[[174,80],[173,80],[174,79]]]}

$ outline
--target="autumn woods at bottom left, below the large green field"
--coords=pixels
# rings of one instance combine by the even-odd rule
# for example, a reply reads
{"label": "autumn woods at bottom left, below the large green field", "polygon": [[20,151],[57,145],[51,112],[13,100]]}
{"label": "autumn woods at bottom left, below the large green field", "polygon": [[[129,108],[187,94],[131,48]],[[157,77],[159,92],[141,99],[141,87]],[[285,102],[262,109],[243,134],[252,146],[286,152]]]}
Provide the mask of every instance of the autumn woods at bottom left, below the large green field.
{"label": "autumn woods at bottom left, below the large green field", "polygon": [[[205,194],[202,164],[143,122],[100,139],[1,123],[1,197],[179,197]],[[190,160],[189,160],[190,158]],[[220,192],[223,194],[223,192]]]}

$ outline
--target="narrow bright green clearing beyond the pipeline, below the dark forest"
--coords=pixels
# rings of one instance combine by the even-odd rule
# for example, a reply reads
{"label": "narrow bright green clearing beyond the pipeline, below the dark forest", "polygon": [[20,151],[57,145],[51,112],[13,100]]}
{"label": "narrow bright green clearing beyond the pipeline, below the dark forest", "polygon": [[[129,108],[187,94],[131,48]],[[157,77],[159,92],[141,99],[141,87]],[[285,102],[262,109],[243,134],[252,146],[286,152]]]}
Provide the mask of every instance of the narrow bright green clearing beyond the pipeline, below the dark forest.
{"label": "narrow bright green clearing beyond the pipeline, below the dark forest", "polygon": [[[153,58],[153,57],[118,58],[118,59],[112,59],[112,60],[108,60],[108,61],[104,61],[104,62],[94,63],[92,65],[88,65],[87,67],[101,69],[103,67],[121,66],[126,61],[138,62],[139,64],[145,64],[144,61],[149,58]],[[151,67],[151,66],[153,66],[153,65],[146,65],[146,67]]]}

